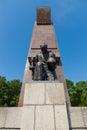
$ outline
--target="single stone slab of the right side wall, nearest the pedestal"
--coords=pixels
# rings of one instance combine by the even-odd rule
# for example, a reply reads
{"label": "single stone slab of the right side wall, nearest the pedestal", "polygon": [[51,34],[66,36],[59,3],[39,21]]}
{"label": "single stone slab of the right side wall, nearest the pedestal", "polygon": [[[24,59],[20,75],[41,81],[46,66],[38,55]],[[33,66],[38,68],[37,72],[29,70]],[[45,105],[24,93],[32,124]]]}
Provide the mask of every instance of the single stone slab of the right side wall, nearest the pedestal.
{"label": "single stone slab of the right side wall, nearest the pedestal", "polygon": [[70,107],[71,128],[84,128],[84,121],[80,107]]}

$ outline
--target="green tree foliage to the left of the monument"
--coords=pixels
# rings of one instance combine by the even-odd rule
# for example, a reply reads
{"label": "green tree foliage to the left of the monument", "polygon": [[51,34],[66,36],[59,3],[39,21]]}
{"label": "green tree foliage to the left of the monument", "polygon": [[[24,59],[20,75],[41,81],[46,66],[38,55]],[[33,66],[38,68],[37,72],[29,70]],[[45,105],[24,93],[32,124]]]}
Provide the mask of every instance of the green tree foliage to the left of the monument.
{"label": "green tree foliage to the left of the monument", "polygon": [[0,107],[13,107],[18,105],[22,83],[20,80],[7,81],[0,76]]}

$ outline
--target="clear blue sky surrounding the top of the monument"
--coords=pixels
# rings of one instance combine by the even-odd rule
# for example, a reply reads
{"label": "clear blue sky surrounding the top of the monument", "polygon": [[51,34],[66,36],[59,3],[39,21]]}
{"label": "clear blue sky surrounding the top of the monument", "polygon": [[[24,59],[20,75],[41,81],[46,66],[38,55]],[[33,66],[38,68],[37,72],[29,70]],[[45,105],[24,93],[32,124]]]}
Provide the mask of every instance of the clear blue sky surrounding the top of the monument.
{"label": "clear blue sky surrounding the top of the monument", "polygon": [[50,6],[65,78],[87,81],[87,0],[0,0],[0,75],[23,80],[38,6]]}

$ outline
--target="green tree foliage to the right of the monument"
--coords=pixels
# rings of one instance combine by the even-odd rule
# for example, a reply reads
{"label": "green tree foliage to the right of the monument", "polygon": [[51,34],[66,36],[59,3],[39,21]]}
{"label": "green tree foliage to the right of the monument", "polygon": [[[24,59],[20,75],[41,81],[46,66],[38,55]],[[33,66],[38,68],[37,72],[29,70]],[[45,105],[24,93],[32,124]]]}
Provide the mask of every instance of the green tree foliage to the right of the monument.
{"label": "green tree foliage to the right of the monument", "polygon": [[66,79],[72,106],[87,106],[87,81],[79,81],[75,85]]}

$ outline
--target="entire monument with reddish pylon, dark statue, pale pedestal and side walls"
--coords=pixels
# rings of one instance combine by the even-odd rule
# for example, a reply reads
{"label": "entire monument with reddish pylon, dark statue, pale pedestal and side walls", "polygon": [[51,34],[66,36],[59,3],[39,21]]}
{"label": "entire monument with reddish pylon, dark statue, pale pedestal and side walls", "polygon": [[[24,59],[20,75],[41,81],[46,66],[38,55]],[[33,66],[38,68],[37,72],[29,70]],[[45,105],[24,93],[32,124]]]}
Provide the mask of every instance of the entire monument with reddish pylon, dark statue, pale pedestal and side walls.
{"label": "entire monument with reddish pylon, dark statue, pale pedestal and side walls", "polygon": [[72,107],[49,7],[37,8],[19,107],[0,108],[0,130],[87,130],[87,107]]}

